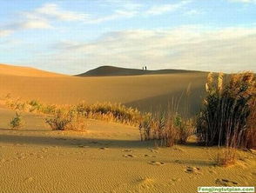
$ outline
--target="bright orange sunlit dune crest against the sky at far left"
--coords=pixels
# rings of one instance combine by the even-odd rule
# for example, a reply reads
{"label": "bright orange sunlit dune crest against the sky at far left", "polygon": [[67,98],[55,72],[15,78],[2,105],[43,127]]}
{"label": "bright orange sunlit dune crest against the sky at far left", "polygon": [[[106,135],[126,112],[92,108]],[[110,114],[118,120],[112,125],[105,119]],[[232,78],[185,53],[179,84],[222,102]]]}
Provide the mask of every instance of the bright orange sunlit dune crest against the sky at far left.
{"label": "bright orange sunlit dune crest against the sky at far left", "polygon": [[0,75],[9,76],[22,76],[22,77],[61,77],[60,75],[53,72],[48,72],[44,70],[37,70],[30,67],[6,65],[0,63]]}

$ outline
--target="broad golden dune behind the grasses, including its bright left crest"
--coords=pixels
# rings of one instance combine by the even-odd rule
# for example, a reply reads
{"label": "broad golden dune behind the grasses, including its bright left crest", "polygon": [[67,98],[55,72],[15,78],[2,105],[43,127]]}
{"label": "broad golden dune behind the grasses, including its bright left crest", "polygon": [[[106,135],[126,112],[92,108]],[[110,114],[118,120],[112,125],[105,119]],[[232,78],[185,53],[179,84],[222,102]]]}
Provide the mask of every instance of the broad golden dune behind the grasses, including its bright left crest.
{"label": "broad golden dune behind the grasses, including its bright left crest", "polygon": [[1,68],[2,98],[10,94],[23,100],[37,99],[44,103],[125,103],[139,110],[155,111],[166,110],[168,103],[172,100],[179,103],[179,98],[183,96],[179,104],[182,110],[185,91],[190,86],[188,101],[192,114],[199,110],[206,78],[204,72],[193,71],[144,76],[71,77],[22,67],[2,65]]}

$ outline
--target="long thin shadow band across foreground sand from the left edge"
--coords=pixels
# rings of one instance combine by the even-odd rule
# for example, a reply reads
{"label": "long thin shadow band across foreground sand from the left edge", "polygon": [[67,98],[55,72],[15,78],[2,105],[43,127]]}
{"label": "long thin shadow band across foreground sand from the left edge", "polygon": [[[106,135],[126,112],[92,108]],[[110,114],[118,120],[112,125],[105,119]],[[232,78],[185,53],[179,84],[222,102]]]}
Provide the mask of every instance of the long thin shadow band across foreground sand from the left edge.
{"label": "long thin shadow band across foreground sand from the left edge", "polygon": [[101,139],[71,136],[22,136],[22,132],[19,132],[18,134],[0,135],[0,142],[10,144],[48,145],[76,148],[86,148],[86,146],[89,146],[90,148],[147,148],[152,147],[153,145],[152,142],[140,142],[139,140]]}

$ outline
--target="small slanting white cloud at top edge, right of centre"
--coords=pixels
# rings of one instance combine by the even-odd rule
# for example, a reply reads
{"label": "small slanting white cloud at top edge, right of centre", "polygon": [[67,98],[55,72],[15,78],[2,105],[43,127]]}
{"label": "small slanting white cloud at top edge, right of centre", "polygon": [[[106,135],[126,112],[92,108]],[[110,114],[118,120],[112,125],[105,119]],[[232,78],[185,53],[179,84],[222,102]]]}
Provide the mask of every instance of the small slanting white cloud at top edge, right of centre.
{"label": "small slanting white cloud at top edge, right of centre", "polygon": [[191,1],[181,1],[179,3],[172,3],[172,4],[161,4],[161,5],[154,5],[149,10],[145,11],[146,15],[162,15],[166,12],[172,12],[178,10],[185,6],[185,4],[190,3]]}

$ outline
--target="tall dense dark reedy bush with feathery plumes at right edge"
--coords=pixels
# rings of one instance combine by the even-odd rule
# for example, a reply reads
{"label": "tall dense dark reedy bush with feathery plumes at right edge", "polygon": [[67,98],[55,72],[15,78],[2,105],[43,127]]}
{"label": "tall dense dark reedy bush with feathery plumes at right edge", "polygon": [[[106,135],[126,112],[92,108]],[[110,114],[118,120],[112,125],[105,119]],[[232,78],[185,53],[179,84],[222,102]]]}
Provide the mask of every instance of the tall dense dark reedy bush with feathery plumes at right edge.
{"label": "tall dense dark reedy bush with feathery plumes at right edge", "polygon": [[255,144],[254,74],[233,74],[224,83],[223,74],[210,73],[205,88],[207,94],[197,119],[199,143],[232,148]]}

